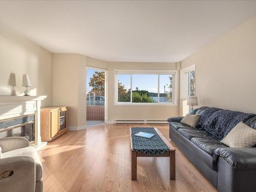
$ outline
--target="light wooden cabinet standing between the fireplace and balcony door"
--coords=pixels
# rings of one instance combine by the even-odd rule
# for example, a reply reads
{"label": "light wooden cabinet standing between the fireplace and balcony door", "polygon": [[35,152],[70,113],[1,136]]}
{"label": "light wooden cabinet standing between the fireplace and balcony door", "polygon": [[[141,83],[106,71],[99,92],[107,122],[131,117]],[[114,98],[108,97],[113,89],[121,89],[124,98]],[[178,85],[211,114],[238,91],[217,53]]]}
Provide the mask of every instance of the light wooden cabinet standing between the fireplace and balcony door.
{"label": "light wooden cabinet standing between the fireplace and balcony door", "polygon": [[67,106],[41,108],[41,141],[52,141],[68,131]]}

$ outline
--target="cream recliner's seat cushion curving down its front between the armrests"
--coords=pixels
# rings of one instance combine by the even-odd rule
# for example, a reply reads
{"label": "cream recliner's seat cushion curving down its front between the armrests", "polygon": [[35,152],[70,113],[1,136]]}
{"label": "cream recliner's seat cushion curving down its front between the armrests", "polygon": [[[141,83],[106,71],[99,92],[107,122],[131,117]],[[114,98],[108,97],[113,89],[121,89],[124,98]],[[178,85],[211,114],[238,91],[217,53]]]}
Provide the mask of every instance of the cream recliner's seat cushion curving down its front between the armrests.
{"label": "cream recliner's seat cushion curving down its front between the armrests", "polygon": [[12,150],[3,153],[3,158],[15,157],[15,156],[29,156],[34,159],[36,167],[36,181],[42,178],[42,164],[40,157],[34,146],[28,146],[24,148],[18,148],[17,150]]}

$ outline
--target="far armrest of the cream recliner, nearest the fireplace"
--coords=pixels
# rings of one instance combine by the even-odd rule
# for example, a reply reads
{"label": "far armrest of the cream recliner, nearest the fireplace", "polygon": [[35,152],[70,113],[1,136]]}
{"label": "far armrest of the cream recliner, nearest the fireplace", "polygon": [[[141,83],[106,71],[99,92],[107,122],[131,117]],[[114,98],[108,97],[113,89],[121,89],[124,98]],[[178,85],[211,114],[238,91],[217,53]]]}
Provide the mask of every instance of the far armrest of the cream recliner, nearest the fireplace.
{"label": "far armrest of the cream recliner, nearest the fireplace", "polygon": [[0,139],[0,146],[2,147],[2,153],[5,153],[27,147],[29,146],[29,141],[25,137],[6,137]]}

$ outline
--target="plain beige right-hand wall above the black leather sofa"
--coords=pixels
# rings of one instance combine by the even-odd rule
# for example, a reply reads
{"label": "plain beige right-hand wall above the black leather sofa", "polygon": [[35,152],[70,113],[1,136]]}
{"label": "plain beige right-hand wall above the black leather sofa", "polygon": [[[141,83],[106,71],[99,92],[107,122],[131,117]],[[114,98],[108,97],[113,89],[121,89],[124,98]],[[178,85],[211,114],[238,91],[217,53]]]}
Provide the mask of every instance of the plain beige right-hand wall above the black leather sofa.
{"label": "plain beige right-hand wall above the black leather sofa", "polygon": [[256,16],[183,60],[182,68],[193,63],[201,106],[256,113]]}

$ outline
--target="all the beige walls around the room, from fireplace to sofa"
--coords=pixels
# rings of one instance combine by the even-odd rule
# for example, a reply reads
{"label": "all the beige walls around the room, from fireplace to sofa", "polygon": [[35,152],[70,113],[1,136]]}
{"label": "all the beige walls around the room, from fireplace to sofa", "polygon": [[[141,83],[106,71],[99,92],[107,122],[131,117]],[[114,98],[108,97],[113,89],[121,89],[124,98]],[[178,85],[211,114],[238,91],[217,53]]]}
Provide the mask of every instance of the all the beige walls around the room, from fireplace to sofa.
{"label": "all the beige walls around the room, from fireplace to sofa", "polygon": [[[69,106],[69,126],[86,125],[86,67],[107,69],[108,120],[166,119],[187,110],[177,106],[114,105],[114,70],[176,70],[175,63],[106,62],[80,54],[52,54],[22,35],[0,26],[0,95],[9,95],[10,73],[22,94],[22,74],[29,74],[33,95],[48,95],[42,106]],[[256,16],[182,61],[196,63],[199,104],[256,113]],[[144,116],[145,114],[145,116]]]}

